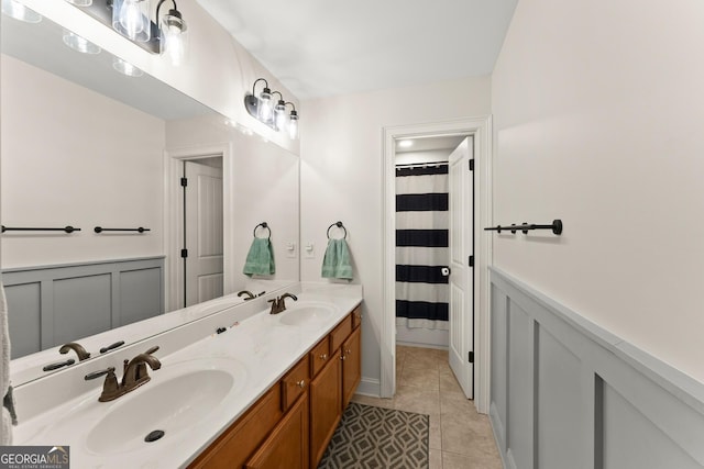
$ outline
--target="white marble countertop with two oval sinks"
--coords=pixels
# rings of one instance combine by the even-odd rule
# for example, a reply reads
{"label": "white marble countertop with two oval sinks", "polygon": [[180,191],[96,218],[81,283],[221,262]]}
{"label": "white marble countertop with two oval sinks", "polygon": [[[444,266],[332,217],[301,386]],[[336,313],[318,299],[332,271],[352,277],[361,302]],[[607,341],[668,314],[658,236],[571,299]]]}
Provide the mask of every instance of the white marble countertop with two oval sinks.
{"label": "white marble countertop with two oval sinks", "polygon": [[[300,287],[292,291],[300,291]],[[153,345],[160,345],[160,350],[154,355],[161,360],[162,368],[150,371],[152,380],[143,387],[107,403],[98,402],[102,378],[89,381],[89,390],[85,390],[86,382],[81,386],[75,382],[82,380],[79,375],[114,366],[114,361],[120,364],[121,358],[112,358],[113,365],[96,364],[95,368],[84,369],[81,373],[56,373],[21,387],[15,394],[21,422],[14,428],[13,443],[69,446],[72,466],[80,468],[170,469],[187,466],[362,301],[362,288],[304,286],[297,302],[286,301],[289,311],[305,304],[326,303],[331,305],[332,314],[310,325],[285,325],[280,321],[286,312],[271,315],[267,309],[261,309],[265,304],[262,300],[256,313],[246,312],[245,305],[241,305],[186,324],[129,347],[134,356]],[[217,327],[228,330],[221,334],[204,334],[204,331],[215,331]],[[179,347],[177,343],[191,334],[200,334],[205,338]],[[121,367],[118,369],[121,370]],[[182,382],[178,376],[195,372],[194,376],[202,376],[206,380],[211,376],[208,372],[217,373],[221,369],[229,370],[234,377],[227,399],[217,403],[193,400],[178,409],[174,413],[176,416],[169,414],[169,418],[158,422],[158,428],[151,427],[154,426],[153,418],[147,416],[151,411],[144,412],[139,404],[142,394],[146,395],[150,390],[158,388],[164,389],[165,401],[178,400],[179,397],[191,399],[191,393],[208,397],[217,391],[213,391],[216,384],[200,390],[199,381]],[[118,378],[121,375],[119,372]],[[52,394],[56,387],[62,389],[62,386],[74,390],[72,399],[45,405],[46,409],[28,410],[23,420],[21,410],[24,405],[38,402],[36,400],[41,400],[43,394]],[[155,410],[154,415],[158,412]],[[110,418],[106,418],[106,415],[110,415]],[[125,416],[129,425],[121,425],[120,418],[124,420]],[[144,436],[153,429],[163,429],[165,436],[157,442],[144,443]],[[105,438],[105,435],[109,438]],[[106,440],[110,444],[106,444]],[[112,445],[112,442],[116,444]]]}

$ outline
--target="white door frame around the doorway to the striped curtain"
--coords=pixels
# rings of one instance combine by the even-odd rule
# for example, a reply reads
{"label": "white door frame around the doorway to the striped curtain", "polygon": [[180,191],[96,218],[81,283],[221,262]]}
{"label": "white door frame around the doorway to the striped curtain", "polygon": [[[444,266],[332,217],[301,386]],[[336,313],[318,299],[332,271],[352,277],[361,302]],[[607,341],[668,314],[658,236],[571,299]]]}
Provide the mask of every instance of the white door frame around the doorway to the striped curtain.
{"label": "white door frame around the doorway to the striped curtain", "polygon": [[[380,395],[392,398],[396,388],[396,144],[402,139],[413,139],[429,136],[471,136],[468,141],[469,148],[473,153],[474,159],[474,200],[458,213],[462,215],[455,223],[462,226],[465,233],[474,237],[472,246],[464,246],[464,250],[454,253],[458,263],[466,266],[470,280],[465,282],[475,294],[457,295],[454,290],[450,290],[450,302],[455,295],[458,302],[464,304],[455,308],[462,311],[464,317],[469,317],[465,327],[457,331],[457,337],[448,337],[448,348],[451,348],[451,340],[462,344],[462,349],[457,350],[458,359],[462,364],[473,361],[473,367],[469,367],[474,381],[474,404],[477,411],[486,413],[488,411],[488,386],[490,386],[490,362],[488,362],[488,265],[491,264],[491,237],[486,236],[482,226],[491,224],[491,116],[475,119],[464,119],[457,121],[438,122],[430,124],[404,125],[384,129],[384,311],[381,324],[381,379]],[[469,161],[466,174],[469,175]],[[458,165],[460,168],[463,164]],[[458,172],[460,174],[460,172]],[[460,199],[466,202],[466,197]],[[451,217],[452,215],[450,215]],[[455,230],[457,228],[449,228]],[[458,232],[459,233],[459,232]],[[471,239],[471,238],[470,238]],[[471,242],[470,242],[471,244]],[[460,254],[461,253],[461,254]],[[466,254],[466,257],[464,257]],[[474,267],[470,268],[472,260],[470,255],[474,255]],[[451,256],[452,257],[452,256]],[[464,264],[468,263],[468,264]],[[449,263],[449,266],[452,266]],[[452,275],[455,270],[451,268]],[[472,276],[472,273],[474,273]],[[465,277],[468,273],[458,272],[458,277]],[[472,278],[473,277],[473,278]],[[462,300],[463,298],[463,300]],[[475,312],[472,317],[472,310]],[[468,314],[469,312],[469,314]],[[450,313],[452,314],[452,313]],[[470,354],[472,353],[472,354]],[[473,360],[472,360],[473,359]],[[473,368],[473,369],[472,369]],[[462,379],[461,377],[458,377]],[[472,397],[468,392],[468,397]]]}

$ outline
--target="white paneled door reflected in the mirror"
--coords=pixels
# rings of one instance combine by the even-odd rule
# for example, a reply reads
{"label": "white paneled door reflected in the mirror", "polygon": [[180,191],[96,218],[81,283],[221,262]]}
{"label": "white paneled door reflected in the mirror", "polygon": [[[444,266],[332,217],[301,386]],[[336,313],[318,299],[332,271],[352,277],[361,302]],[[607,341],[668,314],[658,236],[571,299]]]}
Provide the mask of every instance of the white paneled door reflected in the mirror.
{"label": "white paneled door reflected in the mirror", "polygon": [[222,168],[185,163],[186,306],[222,297]]}

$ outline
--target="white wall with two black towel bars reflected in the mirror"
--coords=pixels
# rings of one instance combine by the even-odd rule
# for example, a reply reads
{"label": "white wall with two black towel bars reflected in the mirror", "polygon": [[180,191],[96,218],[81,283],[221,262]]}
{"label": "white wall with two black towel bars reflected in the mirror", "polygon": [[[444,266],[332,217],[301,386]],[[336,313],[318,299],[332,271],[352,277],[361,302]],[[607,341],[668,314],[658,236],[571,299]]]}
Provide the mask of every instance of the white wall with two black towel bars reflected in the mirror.
{"label": "white wall with two black towel bars reflected in the mirror", "polygon": [[164,121],[1,57],[2,223],[81,228],[8,232],[2,268],[162,255]]}

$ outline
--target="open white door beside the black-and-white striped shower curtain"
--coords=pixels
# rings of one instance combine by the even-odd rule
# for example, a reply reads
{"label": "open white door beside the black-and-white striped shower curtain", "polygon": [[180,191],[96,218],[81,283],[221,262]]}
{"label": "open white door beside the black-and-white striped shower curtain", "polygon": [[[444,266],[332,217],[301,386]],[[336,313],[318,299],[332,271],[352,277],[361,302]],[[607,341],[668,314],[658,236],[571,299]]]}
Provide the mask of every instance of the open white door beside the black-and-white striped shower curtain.
{"label": "open white door beside the black-and-white striped shower curtain", "polygon": [[470,159],[472,137],[465,138],[450,155],[450,368],[464,395],[474,399],[473,290],[470,256],[473,254],[472,209],[474,190]]}

